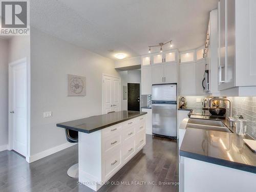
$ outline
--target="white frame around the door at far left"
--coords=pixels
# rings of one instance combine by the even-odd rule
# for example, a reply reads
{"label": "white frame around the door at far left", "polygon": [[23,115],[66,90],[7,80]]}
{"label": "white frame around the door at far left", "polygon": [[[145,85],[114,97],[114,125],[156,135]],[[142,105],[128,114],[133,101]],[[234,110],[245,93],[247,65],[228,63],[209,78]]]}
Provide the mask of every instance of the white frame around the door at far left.
{"label": "white frame around the door at far left", "polygon": [[26,161],[29,162],[29,156],[30,156],[30,63],[28,62],[27,57],[16,60],[14,62],[9,63],[9,130],[8,130],[8,150],[13,150],[12,146],[12,115],[9,113],[12,111],[12,67],[20,65],[21,63],[26,64],[27,68],[27,155],[26,155]]}

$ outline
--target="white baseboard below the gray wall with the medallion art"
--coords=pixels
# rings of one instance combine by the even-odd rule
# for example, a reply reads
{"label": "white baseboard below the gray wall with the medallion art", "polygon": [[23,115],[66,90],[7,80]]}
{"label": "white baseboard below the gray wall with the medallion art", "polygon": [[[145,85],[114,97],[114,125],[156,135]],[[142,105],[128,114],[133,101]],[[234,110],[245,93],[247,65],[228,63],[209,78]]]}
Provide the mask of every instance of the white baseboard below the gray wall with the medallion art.
{"label": "white baseboard below the gray wall with the medallion art", "polygon": [[29,162],[29,163],[32,163],[34,161],[37,161],[39,159],[42,159],[44,157],[47,157],[49,155],[52,155],[54,153],[57,153],[59,151],[62,151],[62,150],[65,150],[65,148],[68,148],[68,147],[71,147],[73,145],[75,145],[77,143],[64,143],[64,144],[61,144],[61,145],[58,145],[58,146],[55,146],[53,148],[49,148],[49,150],[46,150],[46,151],[43,151],[43,152],[40,152],[40,153],[37,153],[35,155],[32,155],[28,158],[26,158],[26,160]]}

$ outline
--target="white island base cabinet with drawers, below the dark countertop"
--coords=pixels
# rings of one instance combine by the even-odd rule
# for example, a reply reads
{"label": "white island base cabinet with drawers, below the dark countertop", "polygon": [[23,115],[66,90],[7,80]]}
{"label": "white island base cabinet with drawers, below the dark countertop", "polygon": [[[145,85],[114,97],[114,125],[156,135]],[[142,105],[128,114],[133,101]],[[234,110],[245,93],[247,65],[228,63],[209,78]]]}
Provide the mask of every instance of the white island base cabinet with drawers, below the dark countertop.
{"label": "white island base cabinet with drawers, below the dark countertop", "polygon": [[86,134],[79,132],[79,182],[97,191],[146,144],[146,115]]}

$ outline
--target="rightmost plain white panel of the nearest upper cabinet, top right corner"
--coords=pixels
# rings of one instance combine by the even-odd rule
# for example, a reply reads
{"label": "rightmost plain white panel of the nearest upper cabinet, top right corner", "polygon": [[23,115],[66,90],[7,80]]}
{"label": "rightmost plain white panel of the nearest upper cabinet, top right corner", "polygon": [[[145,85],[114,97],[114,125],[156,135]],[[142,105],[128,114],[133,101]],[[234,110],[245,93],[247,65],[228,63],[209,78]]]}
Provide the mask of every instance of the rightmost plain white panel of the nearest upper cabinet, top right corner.
{"label": "rightmost plain white panel of the nearest upper cabinet, top right corner", "polygon": [[256,1],[236,1],[236,86],[256,86]]}

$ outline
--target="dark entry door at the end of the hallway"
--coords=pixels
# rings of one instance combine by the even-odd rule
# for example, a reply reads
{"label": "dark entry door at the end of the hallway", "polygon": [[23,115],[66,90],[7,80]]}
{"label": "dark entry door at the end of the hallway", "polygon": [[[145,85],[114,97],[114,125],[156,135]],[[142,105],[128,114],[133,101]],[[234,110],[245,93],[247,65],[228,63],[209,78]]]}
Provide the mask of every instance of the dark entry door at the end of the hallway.
{"label": "dark entry door at the end of the hallway", "polygon": [[128,111],[140,111],[140,84],[128,83]]}

